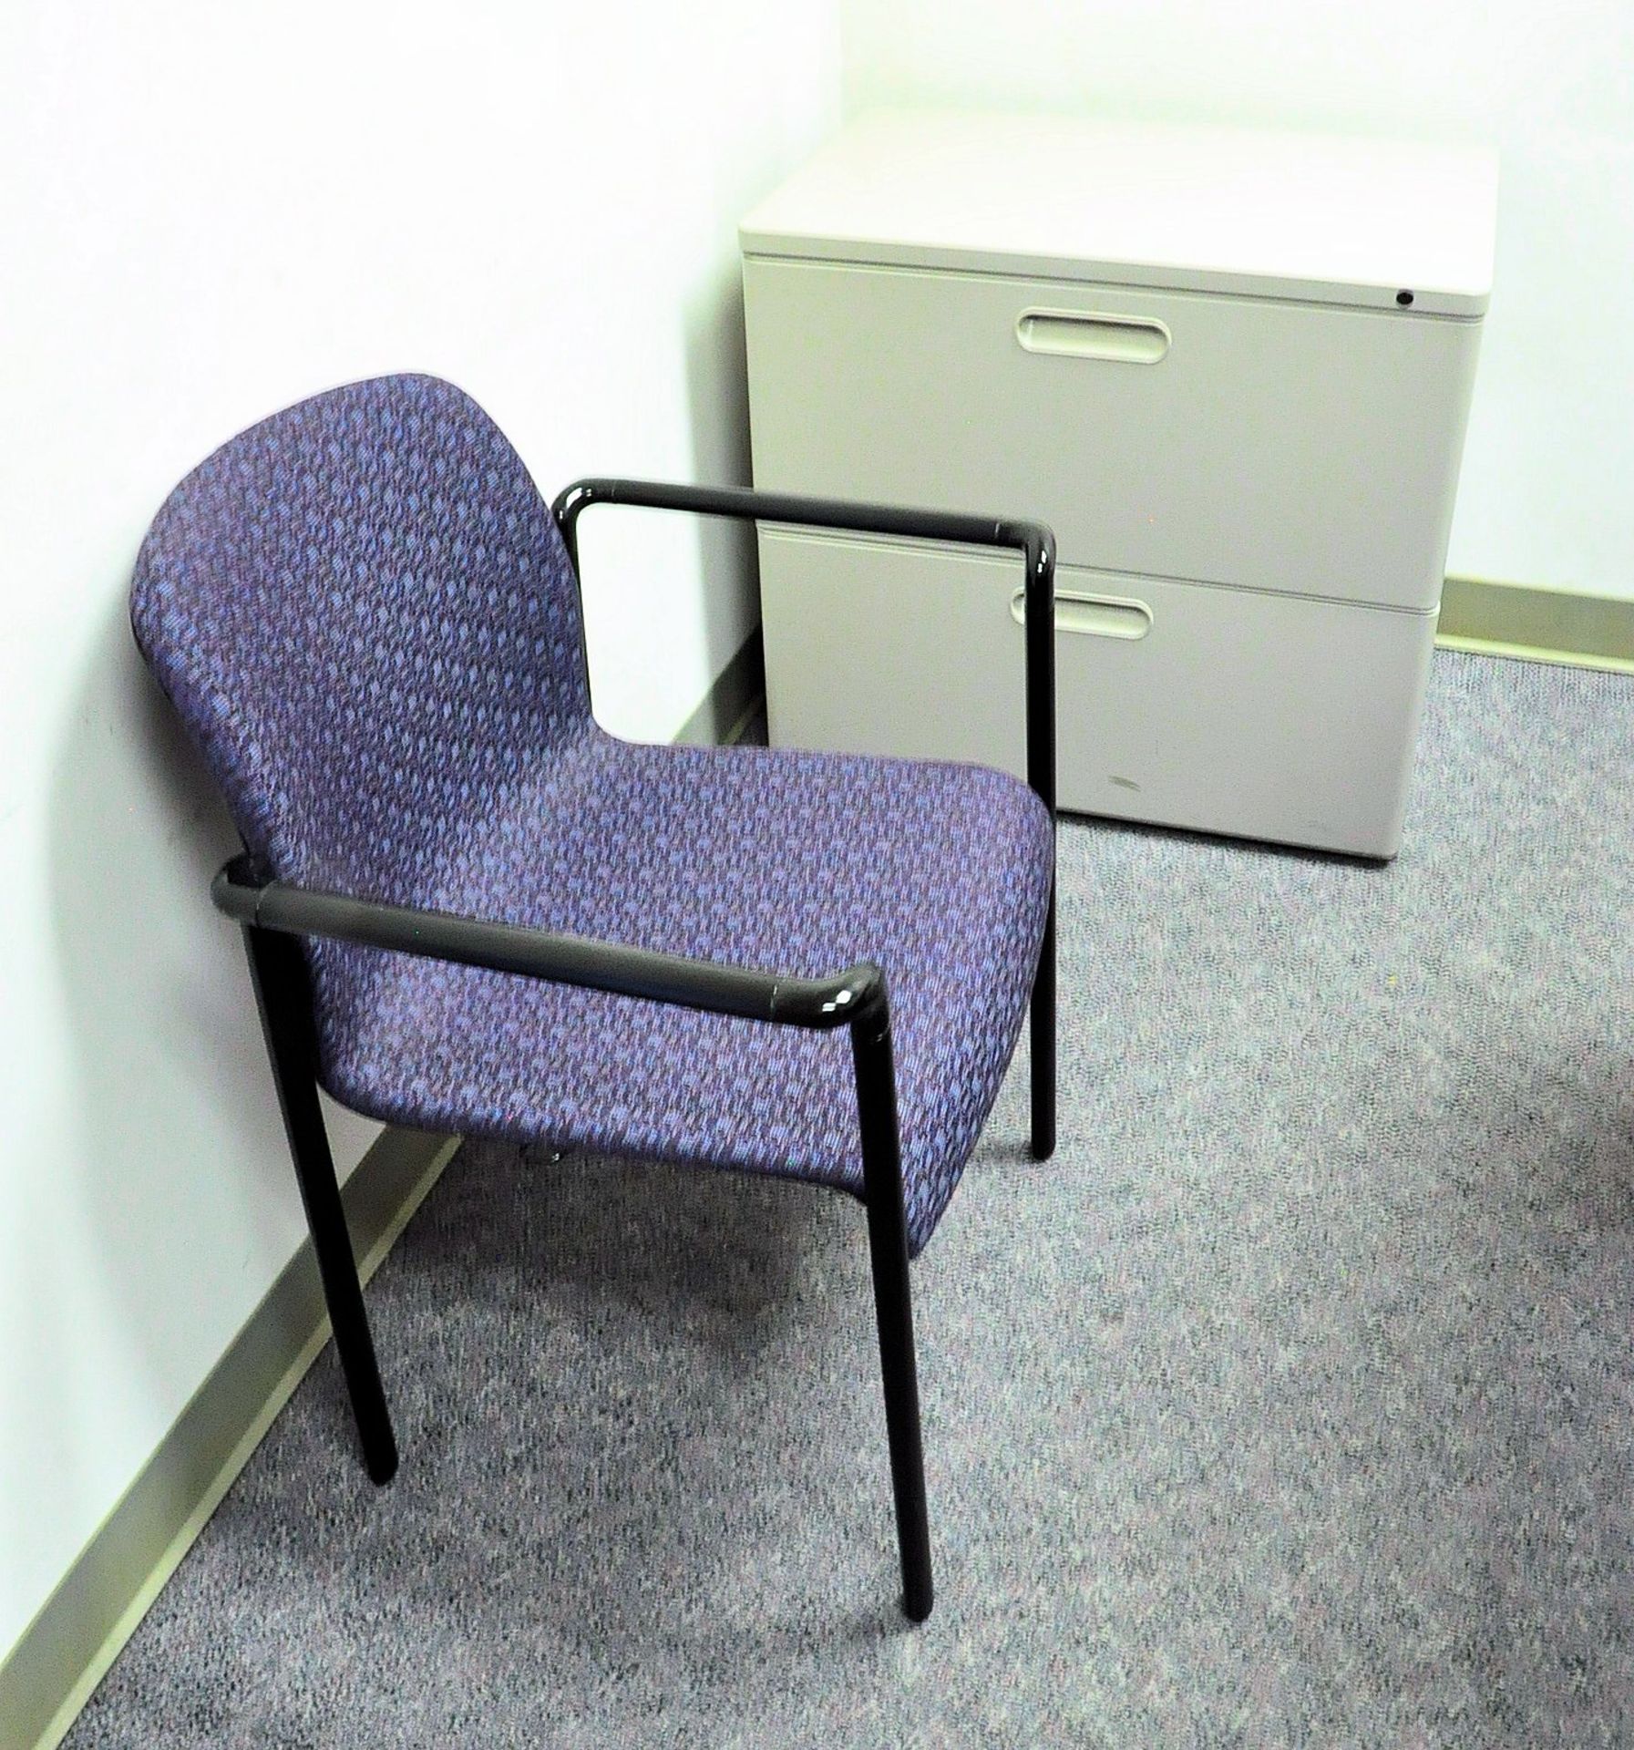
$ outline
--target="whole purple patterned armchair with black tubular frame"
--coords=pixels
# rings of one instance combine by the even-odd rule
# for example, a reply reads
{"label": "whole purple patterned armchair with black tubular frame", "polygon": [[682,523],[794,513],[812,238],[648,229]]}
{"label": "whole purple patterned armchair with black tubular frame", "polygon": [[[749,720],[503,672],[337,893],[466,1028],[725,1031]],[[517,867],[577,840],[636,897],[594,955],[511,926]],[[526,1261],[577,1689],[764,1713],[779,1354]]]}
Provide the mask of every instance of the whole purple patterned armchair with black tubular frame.
{"label": "whole purple patterned armchair with black tubular frame", "polygon": [[[1018,548],[1032,788],[607,735],[574,544],[597,502]],[[318,1083],[388,1124],[859,1197],[904,1608],[924,1619],[908,1258],[959,1183],[1029,994],[1032,1148],[1053,1148],[1050,532],[632,481],[581,481],[551,508],[458,388],[387,376],[276,413],[194,469],[142,546],[131,623],[243,836],[215,901],[245,926],[374,1480],[397,1451]]]}

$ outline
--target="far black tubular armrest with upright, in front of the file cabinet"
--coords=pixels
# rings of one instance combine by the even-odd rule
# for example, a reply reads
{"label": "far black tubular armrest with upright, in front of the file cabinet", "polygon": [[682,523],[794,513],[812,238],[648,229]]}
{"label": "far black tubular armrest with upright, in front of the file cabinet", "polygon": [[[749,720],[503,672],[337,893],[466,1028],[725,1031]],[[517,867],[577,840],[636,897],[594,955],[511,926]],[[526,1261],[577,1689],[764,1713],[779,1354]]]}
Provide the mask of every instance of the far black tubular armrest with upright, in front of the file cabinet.
{"label": "far black tubular armrest with upright, in front of the file cabinet", "polygon": [[1027,560],[1027,782],[1055,816],[1055,536],[1044,523],[1002,516],[960,516],[892,504],[807,499],[752,486],[677,486],[656,480],[576,480],[556,494],[551,514],[579,569],[577,525],[591,504],[637,504],[654,511],[693,511],[738,522],[801,523],[913,541],[1016,548]]}

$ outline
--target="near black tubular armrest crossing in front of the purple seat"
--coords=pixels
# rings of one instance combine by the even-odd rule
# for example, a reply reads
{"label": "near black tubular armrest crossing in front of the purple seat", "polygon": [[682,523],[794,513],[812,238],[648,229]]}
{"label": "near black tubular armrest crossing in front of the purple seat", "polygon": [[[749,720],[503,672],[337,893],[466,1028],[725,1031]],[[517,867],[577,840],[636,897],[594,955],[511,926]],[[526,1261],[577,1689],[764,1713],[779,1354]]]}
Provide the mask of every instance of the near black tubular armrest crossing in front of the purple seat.
{"label": "near black tubular armrest crossing in front of the purple seat", "polygon": [[329,936],[588,990],[640,996],[712,1015],[829,1029],[861,1020],[885,1001],[885,975],[868,961],[833,978],[780,978],[745,966],[654,954],[588,936],[560,936],[521,924],[492,924],[453,912],[353,900],[278,880],[255,882],[243,856],[220,870],[210,884],[210,898],[227,917],[257,929]]}

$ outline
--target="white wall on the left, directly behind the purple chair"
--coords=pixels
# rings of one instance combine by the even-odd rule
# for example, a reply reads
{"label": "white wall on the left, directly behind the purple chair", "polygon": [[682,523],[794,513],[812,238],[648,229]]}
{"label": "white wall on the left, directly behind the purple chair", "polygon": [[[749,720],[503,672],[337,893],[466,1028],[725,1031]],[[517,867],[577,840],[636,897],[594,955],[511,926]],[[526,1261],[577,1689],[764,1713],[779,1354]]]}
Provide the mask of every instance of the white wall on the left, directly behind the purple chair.
{"label": "white wall on the left, directly behind the purple chair", "polygon": [[[0,1654],[301,1236],[205,896],[231,831],[124,621],[149,516],[404,368],[548,490],[747,480],[733,226],[838,93],[831,0],[0,14]],[[619,514],[584,525],[597,704],[661,738],[756,604],[740,542],[705,579]]]}

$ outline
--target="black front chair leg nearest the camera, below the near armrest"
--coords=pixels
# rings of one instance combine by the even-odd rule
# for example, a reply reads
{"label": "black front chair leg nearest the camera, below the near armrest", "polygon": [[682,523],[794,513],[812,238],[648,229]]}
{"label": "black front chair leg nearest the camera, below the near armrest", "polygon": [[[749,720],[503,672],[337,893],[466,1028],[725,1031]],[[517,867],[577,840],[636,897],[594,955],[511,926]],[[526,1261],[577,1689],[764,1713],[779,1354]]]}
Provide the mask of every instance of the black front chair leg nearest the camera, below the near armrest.
{"label": "black front chair leg nearest the camera, below the near armrest", "polygon": [[890,1018],[883,1008],[857,1018],[850,1045],[857,1068],[868,1253],[880,1332],[896,1536],[903,1561],[903,1610],[913,1622],[924,1622],[931,1615],[932,1603],[931,1524],[918,1426],[918,1376],[913,1363],[913,1298],[908,1288],[908,1222],[903,1211],[901,1139],[896,1124],[896,1068]]}

